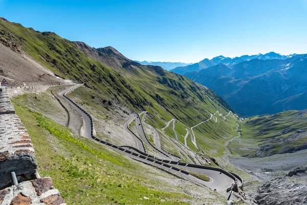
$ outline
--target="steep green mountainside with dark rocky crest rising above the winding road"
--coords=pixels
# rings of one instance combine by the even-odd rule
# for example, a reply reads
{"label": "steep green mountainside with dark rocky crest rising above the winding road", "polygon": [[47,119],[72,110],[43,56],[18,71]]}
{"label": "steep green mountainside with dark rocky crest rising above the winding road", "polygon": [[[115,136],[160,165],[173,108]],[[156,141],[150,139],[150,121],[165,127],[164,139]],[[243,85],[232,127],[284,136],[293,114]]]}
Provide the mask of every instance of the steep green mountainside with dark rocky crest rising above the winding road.
{"label": "steep green mountainside with dark rocky crest rising above the winding road", "polygon": [[[56,75],[84,83],[101,101],[107,99],[112,105],[130,111],[148,111],[153,124],[161,125],[166,118],[177,118],[192,126],[216,109],[224,113],[232,110],[212,90],[160,66],[141,65],[113,47],[95,49],[4,18],[0,19],[0,37],[4,45],[27,53]],[[22,73],[22,69],[18,67],[18,72]],[[212,99],[211,103],[207,98]]]}

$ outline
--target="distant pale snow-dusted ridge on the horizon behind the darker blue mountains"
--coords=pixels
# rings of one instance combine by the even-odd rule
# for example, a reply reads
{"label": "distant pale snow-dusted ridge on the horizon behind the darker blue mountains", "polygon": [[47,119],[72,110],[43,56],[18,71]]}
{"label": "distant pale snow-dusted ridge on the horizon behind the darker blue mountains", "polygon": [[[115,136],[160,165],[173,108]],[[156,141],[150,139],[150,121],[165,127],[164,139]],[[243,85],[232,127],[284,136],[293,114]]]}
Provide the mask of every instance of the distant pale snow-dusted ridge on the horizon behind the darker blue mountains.
{"label": "distant pale snow-dusted ridge on the horizon behind the darker blue mountains", "polygon": [[205,68],[208,68],[210,66],[214,66],[217,64],[225,64],[228,67],[232,67],[233,65],[239,64],[243,61],[248,61],[248,60],[252,60],[252,59],[262,59],[262,60],[271,60],[271,59],[287,59],[289,57],[295,56],[297,54],[291,54],[291,55],[281,55],[279,53],[274,53],[274,52],[270,52],[270,53],[266,53],[266,54],[257,54],[257,55],[242,55],[240,57],[234,57],[234,58],[230,58],[230,57],[224,57],[223,55],[220,56],[216,56],[214,58],[212,58],[211,60],[209,60],[208,58],[205,58],[202,61],[206,61],[208,62],[207,64],[202,64],[200,61],[199,63],[193,64],[193,65],[189,65],[189,66],[184,66],[184,67],[177,67],[174,68],[172,70],[170,70],[171,72],[174,73],[178,73],[178,74],[184,74],[185,72],[190,72],[190,71],[199,71]]}

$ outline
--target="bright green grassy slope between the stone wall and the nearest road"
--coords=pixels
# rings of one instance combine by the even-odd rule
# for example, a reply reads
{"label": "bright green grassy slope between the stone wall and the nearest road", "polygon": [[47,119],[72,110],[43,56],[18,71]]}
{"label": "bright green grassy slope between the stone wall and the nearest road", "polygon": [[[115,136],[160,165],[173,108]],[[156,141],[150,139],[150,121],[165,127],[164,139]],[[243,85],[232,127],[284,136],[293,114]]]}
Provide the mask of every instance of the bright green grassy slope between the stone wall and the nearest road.
{"label": "bright green grassy slope between the stone wall and the nearest road", "polygon": [[184,194],[159,191],[161,184],[144,176],[137,162],[21,106],[26,98],[12,101],[31,136],[38,172],[52,177],[68,204],[186,204]]}

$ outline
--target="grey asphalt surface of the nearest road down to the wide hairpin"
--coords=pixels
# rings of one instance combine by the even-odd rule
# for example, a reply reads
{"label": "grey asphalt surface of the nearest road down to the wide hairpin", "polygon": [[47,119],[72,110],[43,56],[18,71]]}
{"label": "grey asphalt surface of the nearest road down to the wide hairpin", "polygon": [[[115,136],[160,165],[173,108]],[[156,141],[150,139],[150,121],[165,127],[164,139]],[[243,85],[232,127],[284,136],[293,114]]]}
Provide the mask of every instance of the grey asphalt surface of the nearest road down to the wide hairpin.
{"label": "grey asphalt surface of the nearest road down to the wide hairpin", "polygon": [[[78,84],[78,85],[76,85],[76,86],[74,86],[72,88],[68,88],[67,90],[64,90],[61,93],[59,93],[59,95],[64,96],[65,92],[73,90],[73,89],[76,89],[79,86],[82,86],[82,85]],[[67,98],[65,98],[65,99],[67,99]],[[103,143],[103,142],[101,142],[102,140],[99,140],[96,137],[94,137],[94,136],[92,137],[91,136],[91,131],[92,130],[91,130],[90,117],[87,116],[86,114],[84,114],[77,106],[75,106],[73,103],[71,103],[71,101],[70,101],[70,105],[73,106],[75,109],[77,109],[80,112],[80,114],[81,114],[81,116],[83,118],[85,128],[84,128],[84,133],[83,133],[82,136],[86,137],[86,138],[89,138],[89,139],[94,139],[95,141],[97,141],[97,143]],[[133,114],[134,117],[136,117],[136,115],[137,114]],[[140,118],[136,118],[136,119],[137,119],[138,131],[140,131],[140,133],[143,133],[144,138],[145,138],[144,141],[146,141],[147,138],[146,138],[145,133],[144,133],[144,131],[142,129],[142,124],[140,122]],[[127,124],[127,122],[126,122],[126,124]],[[139,124],[141,124],[141,125],[139,125]],[[143,138],[142,135],[141,135],[141,137]],[[105,142],[103,144],[105,144]],[[139,155],[139,156],[133,155],[133,153],[131,153],[131,151],[133,151],[133,150],[131,150],[131,151],[129,151],[129,150],[123,151],[123,150],[120,150],[119,147],[117,147],[117,146],[110,146],[110,144],[108,146],[113,148],[113,149],[116,149],[117,151],[119,151],[119,152],[121,152],[121,153],[123,153],[125,155],[128,155],[131,158],[135,158],[138,161],[142,161],[142,162],[148,163],[148,164],[150,164],[152,166],[155,166],[155,167],[163,168],[164,170],[167,170],[168,172],[176,173],[176,174],[181,175],[181,176],[183,176],[185,178],[189,178],[189,179],[191,179],[191,180],[193,180],[195,182],[199,182],[202,185],[205,185],[205,186],[207,186],[207,187],[209,187],[211,189],[225,190],[228,187],[230,187],[231,183],[234,181],[231,177],[227,176],[224,173],[220,173],[219,171],[213,171],[213,170],[204,169],[204,168],[187,167],[187,166],[183,166],[183,165],[172,165],[171,163],[167,163],[167,162],[162,163],[162,162],[158,161],[157,159],[152,159],[152,158],[149,158],[149,157],[144,157],[144,158],[140,157],[142,155]],[[121,148],[121,149],[123,149],[123,148]],[[181,168],[183,170],[187,170],[187,171],[190,171],[190,172],[195,172],[195,173],[200,173],[200,174],[206,175],[206,176],[210,177],[210,181],[207,182],[207,181],[203,181],[201,179],[195,178],[195,177],[193,177],[190,174],[184,173],[182,170],[176,170],[176,168],[177,169]]]}

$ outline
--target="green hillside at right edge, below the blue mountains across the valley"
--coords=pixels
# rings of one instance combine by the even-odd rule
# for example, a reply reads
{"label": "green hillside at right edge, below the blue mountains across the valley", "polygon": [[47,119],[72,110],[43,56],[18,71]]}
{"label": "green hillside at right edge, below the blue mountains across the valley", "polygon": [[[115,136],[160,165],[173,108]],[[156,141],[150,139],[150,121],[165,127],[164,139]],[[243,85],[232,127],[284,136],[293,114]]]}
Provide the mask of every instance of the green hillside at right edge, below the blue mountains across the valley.
{"label": "green hillside at right edge, below the blue mountains across the valley", "polygon": [[249,157],[292,153],[307,149],[307,111],[286,111],[252,117],[240,122],[240,138],[229,148],[233,154]]}

